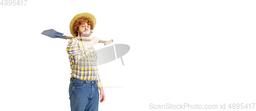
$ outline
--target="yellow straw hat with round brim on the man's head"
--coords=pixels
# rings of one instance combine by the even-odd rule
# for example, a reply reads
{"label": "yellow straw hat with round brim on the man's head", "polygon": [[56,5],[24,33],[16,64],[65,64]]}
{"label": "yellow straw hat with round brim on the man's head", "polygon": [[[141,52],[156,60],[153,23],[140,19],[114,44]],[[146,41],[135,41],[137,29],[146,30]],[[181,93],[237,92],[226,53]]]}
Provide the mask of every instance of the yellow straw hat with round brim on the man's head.
{"label": "yellow straw hat with round brim on the man's head", "polygon": [[[79,14],[77,14],[76,16],[74,16],[74,18],[71,20],[71,22],[70,22],[70,25],[69,25],[69,29],[70,29],[70,33],[74,36],[74,37],[76,37],[73,33],[74,33],[74,24],[75,24],[75,21],[77,20],[77,19],[79,19],[79,18],[81,18],[81,17],[88,17],[88,18],[91,18],[91,20],[92,20],[92,23],[93,23],[93,28],[92,29],[94,29],[95,28],[95,26],[96,26],[96,18],[95,18],[95,16],[93,15],[93,14],[91,14],[91,13],[87,13],[87,12],[84,12],[84,13],[79,13]],[[92,30],[91,29],[91,30]]]}

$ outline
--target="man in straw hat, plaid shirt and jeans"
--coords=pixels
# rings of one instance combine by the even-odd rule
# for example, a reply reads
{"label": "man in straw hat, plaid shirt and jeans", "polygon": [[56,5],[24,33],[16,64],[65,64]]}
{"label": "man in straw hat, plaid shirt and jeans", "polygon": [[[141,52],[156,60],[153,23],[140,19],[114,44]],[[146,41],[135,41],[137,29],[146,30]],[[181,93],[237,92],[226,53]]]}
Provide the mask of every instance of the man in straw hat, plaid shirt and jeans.
{"label": "man in straw hat, plaid shirt and jeans", "polygon": [[[100,38],[89,38],[96,25],[96,18],[91,13],[77,14],[70,23],[72,38],[67,46],[67,53],[71,65],[71,79],[69,86],[70,107],[76,111],[98,110],[99,91],[100,102],[105,100],[102,82],[97,68],[97,53],[92,47]],[[99,90],[99,91],[98,91]]]}

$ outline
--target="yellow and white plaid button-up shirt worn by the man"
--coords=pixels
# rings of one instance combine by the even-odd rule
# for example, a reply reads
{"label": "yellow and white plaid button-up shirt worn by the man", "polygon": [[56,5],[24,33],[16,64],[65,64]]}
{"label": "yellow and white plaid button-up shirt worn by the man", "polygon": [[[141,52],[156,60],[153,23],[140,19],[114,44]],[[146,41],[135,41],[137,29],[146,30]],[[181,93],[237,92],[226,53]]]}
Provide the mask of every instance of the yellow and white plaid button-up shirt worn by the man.
{"label": "yellow and white plaid button-up shirt worn by the man", "polygon": [[67,46],[72,73],[71,77],[82,80],[96,80],[102,87],[97,68],[97,53],[93,47],[81,50],[84,41],[72,38]]}

